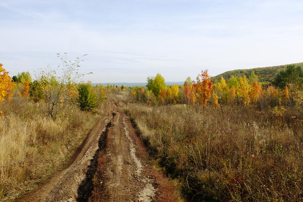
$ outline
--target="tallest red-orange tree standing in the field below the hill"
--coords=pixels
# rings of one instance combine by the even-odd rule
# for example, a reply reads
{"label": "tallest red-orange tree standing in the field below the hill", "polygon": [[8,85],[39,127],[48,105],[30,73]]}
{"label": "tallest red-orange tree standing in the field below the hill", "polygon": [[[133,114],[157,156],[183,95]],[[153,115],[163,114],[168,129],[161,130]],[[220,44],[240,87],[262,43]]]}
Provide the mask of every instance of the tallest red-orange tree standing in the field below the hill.
{"label": "tallest red-orange tree standing in the field below the hill", "polygon": [[198,103],[200,105],[203,105],[203,110],[204,110],[204,107],[211,96],[211,86],[212,86],[207,69],[204,71],[201,70],[201,74],[198,74],[196,78],[196,82],[194,81],[193,86],[195,88],[196,94],[198,94],[197,96]]}

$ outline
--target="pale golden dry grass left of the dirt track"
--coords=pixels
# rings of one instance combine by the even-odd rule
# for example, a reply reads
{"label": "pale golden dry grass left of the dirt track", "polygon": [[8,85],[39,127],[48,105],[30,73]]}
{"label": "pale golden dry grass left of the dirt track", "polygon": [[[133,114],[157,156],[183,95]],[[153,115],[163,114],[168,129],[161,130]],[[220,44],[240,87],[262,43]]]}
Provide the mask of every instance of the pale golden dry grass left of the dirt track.
{"label": "pale golden dry grass left of the dirt track", "polygon": [[0,111],[4,111],[0,116],[0,200],[8,201],[38,187],[62,167],[102,113],[71,107],[53,121],[37,105],[18,96],[1,104]]}

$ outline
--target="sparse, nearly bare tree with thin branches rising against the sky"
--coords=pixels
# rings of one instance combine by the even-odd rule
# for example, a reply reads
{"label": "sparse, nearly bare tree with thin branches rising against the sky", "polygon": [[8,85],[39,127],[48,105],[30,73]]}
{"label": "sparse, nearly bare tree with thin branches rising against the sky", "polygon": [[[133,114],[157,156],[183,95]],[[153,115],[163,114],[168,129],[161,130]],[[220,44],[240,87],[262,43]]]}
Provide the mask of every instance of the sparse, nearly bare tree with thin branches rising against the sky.
{"label": "sparse, nearly bare tree with thin branches rising against the sky", "polygon": [[[48,65],[45,69],[40,69],[36,77],[39,79],[41,91],[44,95],[46,103],[46,111],[55,120],[59,111],[61,111],[69,99],[68,88],[75,81],[85,74],[78,73],[80,63],[84,61],[82,57],[77,57],[74,61],[68,61],[66,53],[64,55],[57,54],[60,57],[62,66],[52,69]],[[59,71],[59,68],[62,71]]]}

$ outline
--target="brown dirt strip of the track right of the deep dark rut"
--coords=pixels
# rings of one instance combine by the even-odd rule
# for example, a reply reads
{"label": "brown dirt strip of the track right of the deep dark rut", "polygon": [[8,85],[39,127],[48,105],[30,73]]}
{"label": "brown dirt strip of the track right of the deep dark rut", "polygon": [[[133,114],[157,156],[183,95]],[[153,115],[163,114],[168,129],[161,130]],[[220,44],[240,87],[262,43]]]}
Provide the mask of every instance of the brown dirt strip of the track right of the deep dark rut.
{"label": "brown dirt strip of the track right of the deep dark rut", "polygon": [[136,154],[137,146],[130,137],[134,129],[125,114],[116,107],[114,112],[105,149],[107,166],[103,168],[100,182],[104,194],[93,194],[89,201],[152,201],[155,181],[146,175],[145,166]]}

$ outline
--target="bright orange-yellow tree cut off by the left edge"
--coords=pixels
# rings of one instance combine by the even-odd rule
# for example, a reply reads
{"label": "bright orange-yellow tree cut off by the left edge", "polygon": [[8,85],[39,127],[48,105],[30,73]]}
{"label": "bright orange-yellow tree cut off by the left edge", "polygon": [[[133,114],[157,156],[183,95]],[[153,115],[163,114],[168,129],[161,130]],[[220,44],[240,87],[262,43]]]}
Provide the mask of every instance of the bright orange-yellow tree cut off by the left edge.
{"label": "bright orange-yellow tree cut off by the left edge", "polygon": [[0,103],[9,101],[13,95],[12,78],[8,73],[8,71],[2,68],[2,64],[0,63]]}

